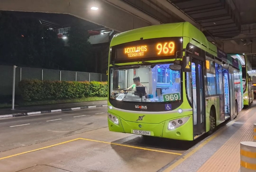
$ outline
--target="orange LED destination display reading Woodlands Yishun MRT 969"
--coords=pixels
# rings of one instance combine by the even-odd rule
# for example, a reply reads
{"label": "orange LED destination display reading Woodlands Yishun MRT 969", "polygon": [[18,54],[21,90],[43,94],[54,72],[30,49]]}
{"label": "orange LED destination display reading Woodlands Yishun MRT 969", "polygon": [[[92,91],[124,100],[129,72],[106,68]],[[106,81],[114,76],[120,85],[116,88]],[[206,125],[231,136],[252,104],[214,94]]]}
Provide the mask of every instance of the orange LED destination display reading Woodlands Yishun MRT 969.
{"label": "orange LED destination display reading Woodlands Yishun MRT 969", "polygon": [[146,39],[112,47],[111,61],[160,60],[175,58],[181,41],[177,37]]}

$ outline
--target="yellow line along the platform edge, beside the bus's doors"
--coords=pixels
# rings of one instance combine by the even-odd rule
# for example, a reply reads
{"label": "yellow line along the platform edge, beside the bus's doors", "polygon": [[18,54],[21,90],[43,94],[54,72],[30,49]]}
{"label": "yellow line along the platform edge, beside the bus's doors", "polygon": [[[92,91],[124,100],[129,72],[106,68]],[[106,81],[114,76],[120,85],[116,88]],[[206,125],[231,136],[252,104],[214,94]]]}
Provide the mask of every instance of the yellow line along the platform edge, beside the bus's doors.
{"label": "yellow line along the platform edge, beside the bus's doors", "polygon": [[199,149],[201,149],[204,145],[206,145],[209,141],[211,141],[212,139],[214,139],[215,137],[217,137],[218,135],[220,135],[222,133],[222,131],[224,131],[225,129],[227,129],[228,127],[230,127],[232,124],[234,124],[235,121],[237,121],[238,119],[240,119],[242,116],[244,116],[246,113],[250,112],[252,109],[248,109],[247,111],[245,111],[241,116],[237,117],[236,119],[234,119],[233,121],[230,121],[224,128],[222,128],[221,130],[217,131],[217,133],[215,133],[214,135],[212,135],[211,137],[209,137],[206,141],[202,142],[201,144],[199,144],[196,148],[192,149],[189,153],[187,153],[186,155],[184,155],[181,159],[177,160],[175,163],[173,163],[172,165],[170,165],[169,167],[167,167],[163,172],[170,172],[171,170],[173,170],[175,167],[177,167],[178,165],[180,165],[183,161],[185,161],[188,157],[190,157],[191,155],[193,155],[195,152],[197,152]]}

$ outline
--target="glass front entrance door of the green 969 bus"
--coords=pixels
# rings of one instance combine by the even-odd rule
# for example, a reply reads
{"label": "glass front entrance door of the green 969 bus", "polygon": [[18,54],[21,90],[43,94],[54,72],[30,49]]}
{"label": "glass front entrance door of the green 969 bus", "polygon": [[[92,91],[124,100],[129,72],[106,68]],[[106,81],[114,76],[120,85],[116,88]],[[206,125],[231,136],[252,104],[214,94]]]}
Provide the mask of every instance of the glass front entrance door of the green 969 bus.
{"label": "glass front entrance door of the green 969 bus", "polygon": [[202,135],[205,132],[202,66],[203,66],[202,61],[192,59],[192,88],[193,88],[192,104],[193,104],[194,136]]}

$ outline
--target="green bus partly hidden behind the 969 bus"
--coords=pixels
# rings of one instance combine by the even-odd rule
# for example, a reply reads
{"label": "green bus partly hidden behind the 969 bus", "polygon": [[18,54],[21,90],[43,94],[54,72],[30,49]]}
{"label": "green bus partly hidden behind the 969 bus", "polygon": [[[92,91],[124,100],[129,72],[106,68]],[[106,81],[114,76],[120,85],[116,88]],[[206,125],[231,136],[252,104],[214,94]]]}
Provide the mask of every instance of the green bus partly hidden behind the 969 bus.
{"label": "green bus partly hidden behind the 969 bus", "polygon": [[227,56],[239,59],[242,64],[243,99],[247,108],[253,102],[252,65],[245,54],[227,53]]}

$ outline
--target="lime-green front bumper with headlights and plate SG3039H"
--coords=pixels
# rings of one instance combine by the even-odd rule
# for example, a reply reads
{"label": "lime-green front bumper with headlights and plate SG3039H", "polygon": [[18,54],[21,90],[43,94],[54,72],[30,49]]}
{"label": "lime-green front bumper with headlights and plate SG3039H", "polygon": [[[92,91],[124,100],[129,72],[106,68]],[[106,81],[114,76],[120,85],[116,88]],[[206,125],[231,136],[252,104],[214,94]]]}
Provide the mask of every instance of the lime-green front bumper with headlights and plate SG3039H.
{"label": "lime-green front bumper with headlights and plate SG3039H", "polygon": [[[158,124],[131,122],[125,121],[117,115],[115,117],[116,120],[108,117],[109,131],[165,137],[175,140],[193,140],[194,138],[192,115],[169,119]],[[179,120],[182,120],[182,124],[178,123]],[[176,125],[173,125],[173,122]]]}

